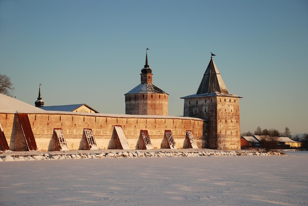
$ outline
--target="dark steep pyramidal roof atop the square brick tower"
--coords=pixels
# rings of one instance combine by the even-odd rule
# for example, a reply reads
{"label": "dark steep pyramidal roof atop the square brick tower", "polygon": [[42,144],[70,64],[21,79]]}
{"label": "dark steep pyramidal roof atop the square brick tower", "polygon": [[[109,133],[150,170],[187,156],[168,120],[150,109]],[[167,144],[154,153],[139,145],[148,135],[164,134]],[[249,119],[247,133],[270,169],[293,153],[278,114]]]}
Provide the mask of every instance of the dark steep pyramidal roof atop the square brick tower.
{"label": "dark steep pyramidal roof atop the square brick tower", "polygon": [[206,94],[212,92],[229,94],[213,58],[210,60],[196,94]]}

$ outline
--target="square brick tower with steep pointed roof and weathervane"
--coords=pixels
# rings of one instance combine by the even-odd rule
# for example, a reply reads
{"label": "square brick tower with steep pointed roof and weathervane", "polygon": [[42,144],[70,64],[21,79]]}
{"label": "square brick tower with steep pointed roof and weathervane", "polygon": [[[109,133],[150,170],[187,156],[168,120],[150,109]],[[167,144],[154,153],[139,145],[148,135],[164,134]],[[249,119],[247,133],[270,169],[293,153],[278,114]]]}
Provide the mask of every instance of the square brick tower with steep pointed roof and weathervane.
{"label": "square brick tower with steep pointed roof and weathervane", "polygon": [[206,147],[212,149],[240,149],[239,98],[230,94],[211,57],[196,94],[184,99],[184,116],[204,118],[208,122]]}

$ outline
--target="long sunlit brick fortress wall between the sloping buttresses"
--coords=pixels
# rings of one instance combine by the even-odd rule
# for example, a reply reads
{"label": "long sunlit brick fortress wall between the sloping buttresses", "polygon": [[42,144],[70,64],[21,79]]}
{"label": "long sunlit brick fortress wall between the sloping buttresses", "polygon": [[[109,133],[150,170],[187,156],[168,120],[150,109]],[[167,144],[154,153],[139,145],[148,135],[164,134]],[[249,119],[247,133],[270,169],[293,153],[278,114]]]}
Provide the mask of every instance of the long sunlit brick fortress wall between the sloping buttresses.
{"label": "long sunlit brick fortress wall between the sloping buttresses", "polygon": [[[177,148],[183,148],[186,130],[191,130],[199,148],[205,143],[206,121],[168,116],[130,116],[103,114],[28,114],[38,150],[52,147],[54,128],[62,128],[69,150],[82,148],[84,128],[91,128],[98,149],[112,144],[114,125],[121,125],[130,149],[138,148],[140,130],[148,130],[153,148],[160,148],[164,130],[171,130]],[[0,122],[11,150],[27,150],[17,114],[0,114]]]}

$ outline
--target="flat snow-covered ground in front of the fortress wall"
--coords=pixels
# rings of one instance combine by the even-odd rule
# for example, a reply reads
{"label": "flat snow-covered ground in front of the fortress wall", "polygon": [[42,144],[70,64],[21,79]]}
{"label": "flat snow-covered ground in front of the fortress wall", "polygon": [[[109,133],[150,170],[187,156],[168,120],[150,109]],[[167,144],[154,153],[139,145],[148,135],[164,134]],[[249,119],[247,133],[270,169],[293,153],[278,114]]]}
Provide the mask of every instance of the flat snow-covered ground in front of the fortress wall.
{"label": "flat snow-covered ground in front of the fortress wall", "polygon": [[308,205],[308,152],[288,154],[3,161],[0,205]]}

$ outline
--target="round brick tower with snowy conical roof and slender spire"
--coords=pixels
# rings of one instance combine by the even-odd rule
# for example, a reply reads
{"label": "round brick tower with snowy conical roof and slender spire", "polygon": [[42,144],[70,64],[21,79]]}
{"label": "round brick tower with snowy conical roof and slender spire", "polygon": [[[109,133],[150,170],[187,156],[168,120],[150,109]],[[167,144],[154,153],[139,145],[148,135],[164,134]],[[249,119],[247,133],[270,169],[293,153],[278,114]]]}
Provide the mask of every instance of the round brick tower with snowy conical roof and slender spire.
{"label": "round brick tower with snowy conical roof and slender spire", "polygon": [[125,95],[125,114],[127,115],[168,115],[168,94],[152,84],[153,74],[148,64],[141,70],[141,84]]}

